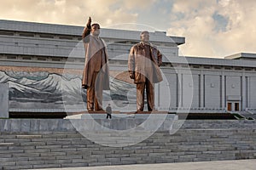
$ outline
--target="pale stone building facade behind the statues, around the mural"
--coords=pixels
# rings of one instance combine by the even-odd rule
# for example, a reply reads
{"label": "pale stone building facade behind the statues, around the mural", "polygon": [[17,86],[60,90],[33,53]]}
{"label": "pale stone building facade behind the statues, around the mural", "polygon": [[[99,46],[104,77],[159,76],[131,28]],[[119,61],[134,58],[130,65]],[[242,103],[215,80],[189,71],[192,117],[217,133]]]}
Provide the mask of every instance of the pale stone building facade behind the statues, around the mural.
{"label": "pale stone building facade behind the statues, around the mural", "polygon": [[[35,82],[21,83],[19,71],[33,77],[32,73],[39,74],[40,71],[61,74],[65,68],[83,69],[84,49],[78,45],[82,31],[81,26],[0,20],[0,71],[9,76],[7,79],[2,75],[0,82],[8,82],[10,91],[16,90],[12,95],[18,95],[15,86],[11,89],[14,82],[20,81],[18,84],[22,87],[27,85],[29,89],[36,90],[32,86]],[[111,71],[127,71],[129,50],[139,42],[139,34],[140,31],[102,29],[101,37],[108,44]],[[241,53],[224,59],[184,57],[178,54],[178,46],[185,43],[184,37],[168,37],[166,32],[154,31],[150,32],[150,40],[165,55],[161,71],[167,82],[155,85],[157,109],[189,109],[191,112],[256,109],[256,54]],[[29,76],[26,78],[29,79]],[[36,78],[29,80],[36,81]],[[166,97],[171,98],[167,100],[168,108]],[[21,98],[13,96],[12,99],[20,101]],[[188,98],[192,99],[191,102],[187,101]],[[37,108],[40,111],[54,111],[54,108],[47,110],[45,105]],[[9,110],[29,111],[29,108],[17,106],[14,101]]]}

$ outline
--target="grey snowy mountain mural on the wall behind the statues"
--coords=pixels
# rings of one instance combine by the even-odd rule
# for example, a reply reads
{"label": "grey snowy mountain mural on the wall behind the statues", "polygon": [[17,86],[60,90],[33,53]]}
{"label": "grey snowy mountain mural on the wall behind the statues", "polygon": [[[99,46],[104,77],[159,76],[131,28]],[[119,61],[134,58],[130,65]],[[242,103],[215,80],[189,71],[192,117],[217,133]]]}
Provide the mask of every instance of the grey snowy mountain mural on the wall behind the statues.
{"label": "grey snowy mountain mural on the wall behind the statues", "polygon": [[[0,71],[0,83],[4,82],[9,83],[10,109],[63,109],[64,105],[86,105],[86,90],[81,88],[78,75]],[[110,89],[103,92],[104,101],[112,100],[116,105],[136,103],[133,84],[110,77]]]}

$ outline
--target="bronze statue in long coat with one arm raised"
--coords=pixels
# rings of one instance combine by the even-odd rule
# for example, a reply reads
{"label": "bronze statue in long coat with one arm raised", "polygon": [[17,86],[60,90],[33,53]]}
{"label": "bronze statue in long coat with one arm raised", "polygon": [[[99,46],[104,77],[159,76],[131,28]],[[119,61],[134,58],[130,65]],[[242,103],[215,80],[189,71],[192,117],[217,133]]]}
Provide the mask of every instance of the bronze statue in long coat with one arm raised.
{"label": "bronze statue in long coat with one arm raised", "polygon": [[85,50],[85,64],[82,88],[87,89],[87,110],[102,110],[103,90],[109,90],[108,54],[100,35],[100,25],[91,25],[91,18],[82,34]]}

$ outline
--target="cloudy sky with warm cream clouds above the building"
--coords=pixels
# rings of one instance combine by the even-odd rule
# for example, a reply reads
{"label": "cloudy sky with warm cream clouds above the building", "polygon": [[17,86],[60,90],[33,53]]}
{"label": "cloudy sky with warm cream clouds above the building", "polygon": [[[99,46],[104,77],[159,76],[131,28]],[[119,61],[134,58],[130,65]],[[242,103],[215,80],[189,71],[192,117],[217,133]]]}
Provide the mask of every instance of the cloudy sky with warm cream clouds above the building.
{"label": "cloudy sky with warm cream clouds above the building", "polygon": [[180,54],[256,53],[255,0],[1,0],[0,19],[166,31],[186,37]]}

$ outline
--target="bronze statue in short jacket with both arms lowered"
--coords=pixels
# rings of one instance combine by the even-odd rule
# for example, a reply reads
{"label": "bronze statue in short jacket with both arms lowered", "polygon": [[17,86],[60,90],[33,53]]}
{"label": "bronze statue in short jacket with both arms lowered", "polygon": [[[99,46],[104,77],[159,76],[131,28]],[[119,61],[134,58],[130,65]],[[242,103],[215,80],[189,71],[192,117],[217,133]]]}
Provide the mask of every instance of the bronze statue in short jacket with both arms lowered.
{"label": "bronze statue in short jacket with both arms lowered", "polygon": [[144,108],[146,88],[148,111],[154,111],[154,83],[163,80],[160,73],[162,54],[149,42],[149,32],[141,32],[141,42],[135,44],[129,54],[128,70],[137,84],[137,112]]}

